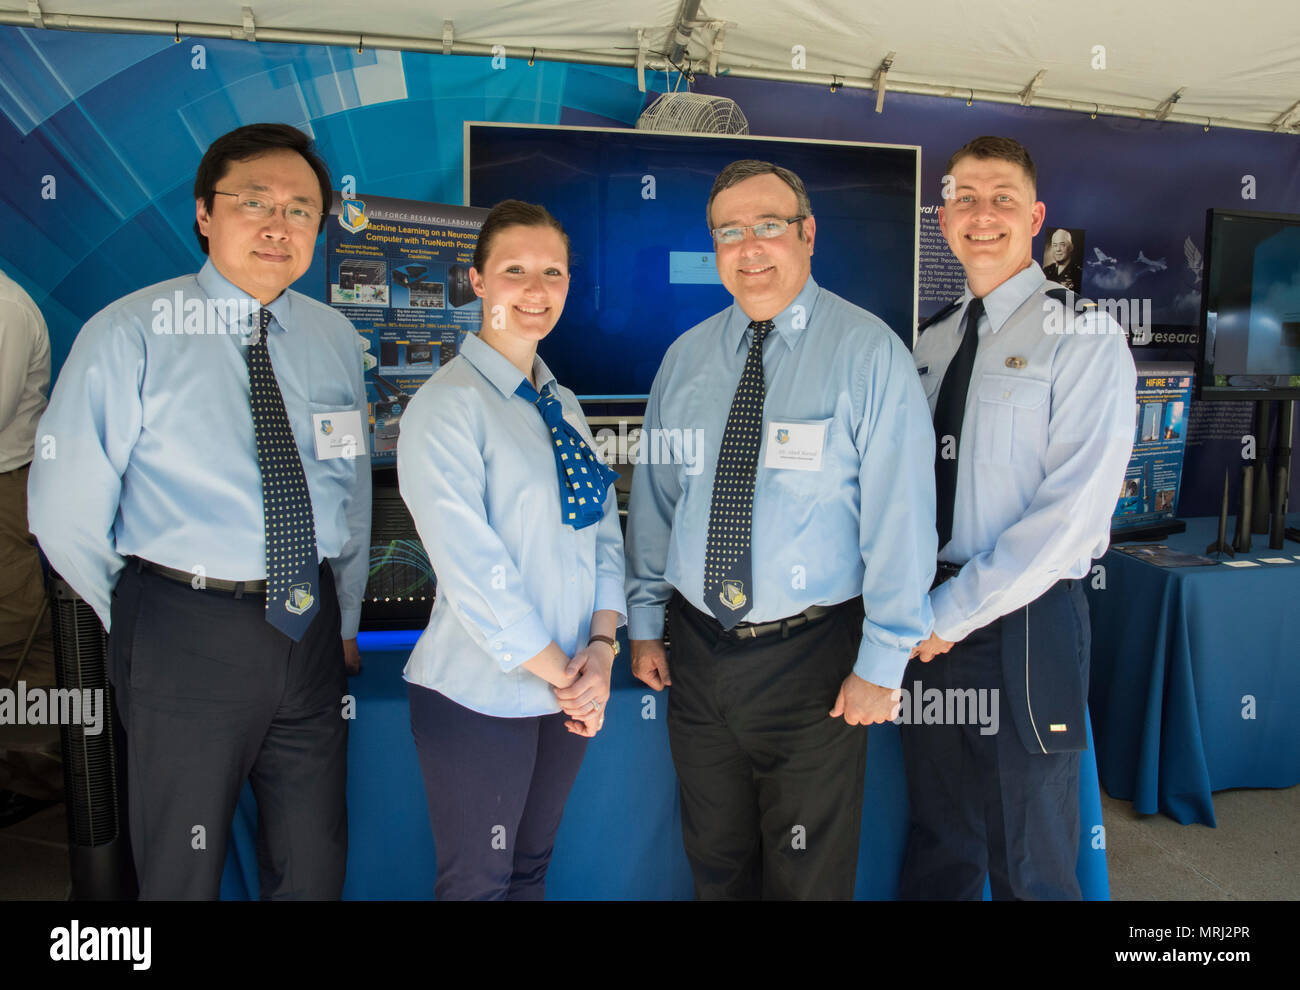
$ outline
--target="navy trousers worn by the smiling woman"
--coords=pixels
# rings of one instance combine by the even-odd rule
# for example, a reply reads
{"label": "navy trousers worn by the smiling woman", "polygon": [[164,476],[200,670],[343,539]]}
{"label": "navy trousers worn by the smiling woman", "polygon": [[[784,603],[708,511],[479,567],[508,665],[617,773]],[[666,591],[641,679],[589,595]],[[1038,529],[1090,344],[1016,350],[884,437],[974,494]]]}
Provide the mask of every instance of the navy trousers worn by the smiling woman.
{"label": "navy trousers worn by the smiling woman", "polygon": [[563,712],[481,715],[408,685],[438,900],[542,900],[546,868],[588,741]]}

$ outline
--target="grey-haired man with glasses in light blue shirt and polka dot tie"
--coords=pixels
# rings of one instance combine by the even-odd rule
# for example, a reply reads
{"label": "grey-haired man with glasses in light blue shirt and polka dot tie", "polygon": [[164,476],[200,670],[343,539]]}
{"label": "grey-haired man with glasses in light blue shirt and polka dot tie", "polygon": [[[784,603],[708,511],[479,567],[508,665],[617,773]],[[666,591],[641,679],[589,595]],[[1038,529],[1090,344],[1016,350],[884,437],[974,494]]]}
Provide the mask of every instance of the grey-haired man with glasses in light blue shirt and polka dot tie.
{"label": "grey-haired man with glasses in light blue shirt and polka dot tie", "polygon": [[794,173],[733,162],[706,217],[734,304],[668,348],[650,391],[644,435],[703,430],[703,457],[637,465],[632,669],[672,686],[696,895],[848,899],[863,726],[896,716],[931,625],[933,433],[901,340],[812,279]]}

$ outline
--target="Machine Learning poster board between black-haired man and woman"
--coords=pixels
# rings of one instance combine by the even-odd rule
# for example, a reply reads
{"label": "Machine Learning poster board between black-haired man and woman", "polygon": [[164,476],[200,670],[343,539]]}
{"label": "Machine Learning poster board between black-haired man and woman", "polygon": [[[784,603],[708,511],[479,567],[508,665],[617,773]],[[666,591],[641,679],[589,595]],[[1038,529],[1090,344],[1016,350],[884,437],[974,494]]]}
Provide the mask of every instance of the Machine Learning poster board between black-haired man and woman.
{"label": "Machine Learning poster board between black-haired man and woman", "polygon": [[395,464],[402,414],[465,331],[482,324],[469,285],[486,209],[334,194],[325,300],[365,340],[370,459]]}

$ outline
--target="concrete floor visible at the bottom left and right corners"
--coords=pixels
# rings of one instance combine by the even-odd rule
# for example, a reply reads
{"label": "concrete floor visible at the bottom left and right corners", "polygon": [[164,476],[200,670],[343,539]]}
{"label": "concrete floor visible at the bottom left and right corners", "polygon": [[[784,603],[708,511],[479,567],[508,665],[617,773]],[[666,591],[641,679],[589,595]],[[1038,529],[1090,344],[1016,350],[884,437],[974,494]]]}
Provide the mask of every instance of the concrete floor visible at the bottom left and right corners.
{"label": "concrete floor visible at the bottom left and right corners", "polygon": [[[1300,900],[1300,786],[1214,795],[1217,829],[1101,795],[1113,900]],[[0,900],[64,900],[64,806],[0,830]]]}

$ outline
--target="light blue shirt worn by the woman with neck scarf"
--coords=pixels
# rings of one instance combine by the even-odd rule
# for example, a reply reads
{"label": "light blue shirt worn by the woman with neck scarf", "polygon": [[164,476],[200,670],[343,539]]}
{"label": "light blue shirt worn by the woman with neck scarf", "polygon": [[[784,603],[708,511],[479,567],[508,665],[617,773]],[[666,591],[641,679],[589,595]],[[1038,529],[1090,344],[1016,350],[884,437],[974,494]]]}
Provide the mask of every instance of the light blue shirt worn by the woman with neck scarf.
{"label": "light blue shirt worn by the woman with neck scarf", "polygon": [[[533,378],[538,390],[555,382],[541,357]],[[537,407],[515,395],[523,379],[468,334],[460,355],[420,386],[398,438],[402,498],[438,581],[403,676],[499,717],[558,712],[551,686],[521,664],[552,642],[573,656],[594,612],[627,616],[612,486],[599,522],[560,521],[552,438]],[[555,394],[594,450],[573,392],[556,383]]]}

